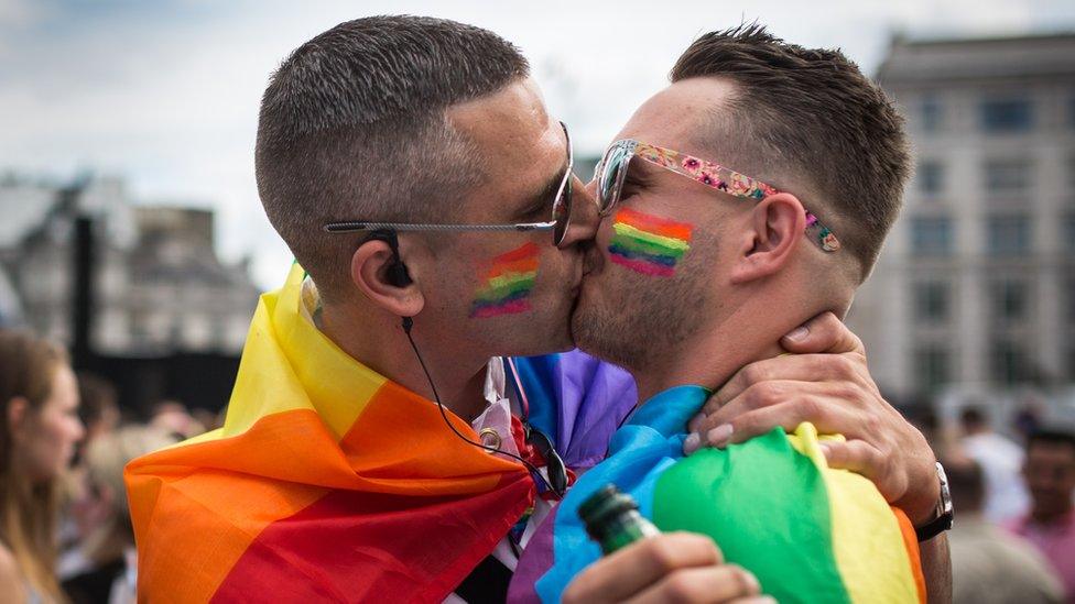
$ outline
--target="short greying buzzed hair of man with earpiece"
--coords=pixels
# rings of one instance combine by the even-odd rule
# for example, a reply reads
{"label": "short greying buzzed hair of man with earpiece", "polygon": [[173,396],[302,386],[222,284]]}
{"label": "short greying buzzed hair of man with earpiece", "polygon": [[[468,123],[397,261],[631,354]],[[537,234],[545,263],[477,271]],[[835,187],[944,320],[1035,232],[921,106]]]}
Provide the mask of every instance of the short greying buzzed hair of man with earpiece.
{"label": "short greying buzzed hair of man with earpiece", "polygon": [[270,77],[258,120],[258,191],[273,228],[339,299],[362,235],[336,220],[450,222],[480,182],[445,110],[530,67],[492,32],[422,17],[370,17],[306,42]]}

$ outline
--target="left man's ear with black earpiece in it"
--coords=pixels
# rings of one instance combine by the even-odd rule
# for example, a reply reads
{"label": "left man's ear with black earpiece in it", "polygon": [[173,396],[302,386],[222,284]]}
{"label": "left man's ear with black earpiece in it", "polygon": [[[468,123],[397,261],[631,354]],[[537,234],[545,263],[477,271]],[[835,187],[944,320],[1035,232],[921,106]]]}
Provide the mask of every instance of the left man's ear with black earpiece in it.
{"label": "left man's ear with black earpiece in it", "polygon": [[381,240],[361,244],[351,255],[351,283],[370,301],[399,317],[413,317],[425,307],[422,288],[411,278],[397,252]]}

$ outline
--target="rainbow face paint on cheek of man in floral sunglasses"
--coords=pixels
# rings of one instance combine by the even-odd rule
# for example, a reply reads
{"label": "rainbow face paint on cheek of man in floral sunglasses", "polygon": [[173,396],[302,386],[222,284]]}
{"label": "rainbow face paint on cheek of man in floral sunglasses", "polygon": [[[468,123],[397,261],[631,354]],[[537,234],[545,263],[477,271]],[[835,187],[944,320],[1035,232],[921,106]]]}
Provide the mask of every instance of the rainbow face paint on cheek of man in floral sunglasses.
{"label": "rainbow face paint on cheek of man in floral sunglasses", "polygon": [[658,277],[675,274],[675,265],[691,249],[691,224],[622,208],[612,223],[608,246],[616,264]]}

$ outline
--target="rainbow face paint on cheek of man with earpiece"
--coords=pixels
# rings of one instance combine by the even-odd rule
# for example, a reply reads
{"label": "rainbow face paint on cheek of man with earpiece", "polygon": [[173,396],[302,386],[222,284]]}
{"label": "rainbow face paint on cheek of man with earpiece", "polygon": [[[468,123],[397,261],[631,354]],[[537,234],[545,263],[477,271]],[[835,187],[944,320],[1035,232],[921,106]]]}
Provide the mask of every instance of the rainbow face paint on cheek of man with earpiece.
{"label": "rainbow face paint on cheek of man with earpiece", "polygon": [[526,299],[538,281],[538,245],[525,245],[492,259],[482,272],[485,284],[470,305],[471,319],[530,310]]}

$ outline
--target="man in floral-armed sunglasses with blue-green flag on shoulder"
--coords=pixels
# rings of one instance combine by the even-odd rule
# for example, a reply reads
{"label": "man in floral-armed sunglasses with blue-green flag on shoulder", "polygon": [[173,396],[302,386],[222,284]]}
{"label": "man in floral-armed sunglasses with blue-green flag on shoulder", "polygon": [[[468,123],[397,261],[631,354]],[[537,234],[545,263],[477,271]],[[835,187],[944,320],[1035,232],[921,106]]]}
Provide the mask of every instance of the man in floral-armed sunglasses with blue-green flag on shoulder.
{"label": "man in floral-armed sunglasses with blue-green flag on shoulder", "polygon": [[[948,597],[943,469],[926,452],[924,484],[872,474],[876,488],[835,470],[884,466],[878,424],[825,417],[830,394],[793,376],[816,365],[774,359],[789,329],[847,310],[909,163],[902,119],[838,52],[757,25],[692,44],[598,164],[604,220],[573,316],[576,343],[627,367],[643,403],[528,548],[517,598],[719,600],[699,584],[654,585],[652,571],[621,574],[630,547],[600,558],[578,509],[609,483],[659,528],[709,536],[781,602],[917,602],[927,579],[931,601]],[[735,392],[778,361],[790,378]],[[775,419],[773,391],[805,405]],[[683,458],[703,444],[717,449]],[[930,485],[940,496],[921,499]]]}

